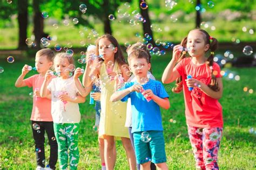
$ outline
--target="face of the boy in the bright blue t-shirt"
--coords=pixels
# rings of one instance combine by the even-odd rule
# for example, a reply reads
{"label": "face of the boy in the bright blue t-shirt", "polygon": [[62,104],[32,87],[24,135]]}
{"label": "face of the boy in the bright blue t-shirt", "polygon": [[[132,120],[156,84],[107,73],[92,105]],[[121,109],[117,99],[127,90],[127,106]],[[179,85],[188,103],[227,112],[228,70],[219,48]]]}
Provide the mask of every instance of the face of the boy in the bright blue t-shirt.
{"label": "face of the boy in the bright blue t-shirt", "polygon": [[129,62],[130,70],[136,77],[146,77],[147,71],[150,69],[150,63],[147,63],[146,59],[132,58]]}

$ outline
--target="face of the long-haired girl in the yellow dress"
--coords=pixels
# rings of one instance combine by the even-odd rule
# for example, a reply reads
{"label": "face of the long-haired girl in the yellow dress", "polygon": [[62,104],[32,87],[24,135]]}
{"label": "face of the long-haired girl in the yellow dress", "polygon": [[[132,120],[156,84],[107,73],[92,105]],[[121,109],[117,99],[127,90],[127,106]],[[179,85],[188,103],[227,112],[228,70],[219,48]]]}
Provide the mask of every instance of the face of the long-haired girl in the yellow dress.
{"label": "face of the long-haired girl in the yellow dress", "polygon": [[117,52],[117,47],[114,47],[113,44],[106,38],[99,40],[99,55],[103,55],[104,60],[113,60],[114,53]]}

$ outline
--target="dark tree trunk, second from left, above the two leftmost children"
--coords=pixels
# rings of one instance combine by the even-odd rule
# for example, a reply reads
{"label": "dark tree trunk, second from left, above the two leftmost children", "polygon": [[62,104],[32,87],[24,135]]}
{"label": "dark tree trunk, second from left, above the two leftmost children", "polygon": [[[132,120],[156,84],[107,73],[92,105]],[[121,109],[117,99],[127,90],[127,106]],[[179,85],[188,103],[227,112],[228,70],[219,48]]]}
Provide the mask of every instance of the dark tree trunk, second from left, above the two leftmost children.
{"label": "dark tree trunk, second from left, above the two leftmost children", "polygon": [[[36,47],[40,48],[40,40],[44,35],[44,19],[42,17],[42,12],[39,8],[40,1],[39,0],[33,0],[33,24],[34,29],[33,33],[35,35],[35,41],[36,41]],[[46,36],[47,37],[47,36]]]}

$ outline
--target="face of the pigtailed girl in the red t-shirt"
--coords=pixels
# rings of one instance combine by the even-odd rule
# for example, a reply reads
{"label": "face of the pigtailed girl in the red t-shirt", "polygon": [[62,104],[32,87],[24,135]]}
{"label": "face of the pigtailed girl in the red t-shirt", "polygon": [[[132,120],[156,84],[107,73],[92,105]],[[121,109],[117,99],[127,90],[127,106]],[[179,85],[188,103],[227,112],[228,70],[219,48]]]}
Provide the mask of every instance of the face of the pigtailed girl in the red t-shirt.
{"label": "face of the pigtailed girl in the red t-shirt", "polygon": [[204,36],[204,33],[199,30],[192,30],[188,33],[187,48],[191,49],[191,51],[188,52],[190,56],[204,56],[205,52],[209,49],[210,45],[205,44]]}

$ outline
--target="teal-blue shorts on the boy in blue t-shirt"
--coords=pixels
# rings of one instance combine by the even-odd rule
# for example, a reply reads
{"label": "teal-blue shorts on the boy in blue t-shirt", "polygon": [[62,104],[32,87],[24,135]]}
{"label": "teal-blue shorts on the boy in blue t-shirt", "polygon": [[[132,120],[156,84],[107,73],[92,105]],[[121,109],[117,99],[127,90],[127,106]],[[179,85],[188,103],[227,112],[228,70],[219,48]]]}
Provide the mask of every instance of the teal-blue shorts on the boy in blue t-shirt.
{"label": "teal-blue shorts on the boy in blue t-shirt", "polygon": [[137,164],[152,161],[154,164],[166,162],[165,143],[163,131],[146,131],[151,140],[147,143],[142,141],[142,132],[134,132],[134,148]]}

